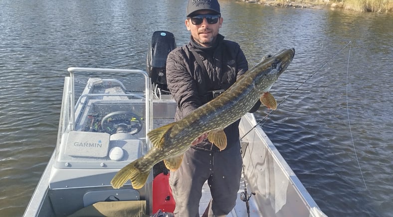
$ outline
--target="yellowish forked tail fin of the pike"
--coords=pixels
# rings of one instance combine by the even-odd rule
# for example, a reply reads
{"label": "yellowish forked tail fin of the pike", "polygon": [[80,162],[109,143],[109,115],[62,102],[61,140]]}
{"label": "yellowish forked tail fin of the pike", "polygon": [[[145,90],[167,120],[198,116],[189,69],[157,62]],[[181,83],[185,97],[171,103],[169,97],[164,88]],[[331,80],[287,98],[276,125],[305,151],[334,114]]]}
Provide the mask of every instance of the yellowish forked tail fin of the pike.
{"label": "yellowish forked tail fin of the pike", "polygon": [[131,180],[131,184],[134,189],[140,189],[145,185],[150,171],[141,172],[139,169],[137,169],[135,164],[138,163],[138,160],[139,159],[131,162],[116,173],[111,181],[111,185],[114,189],[119,189],[128,180]]}

